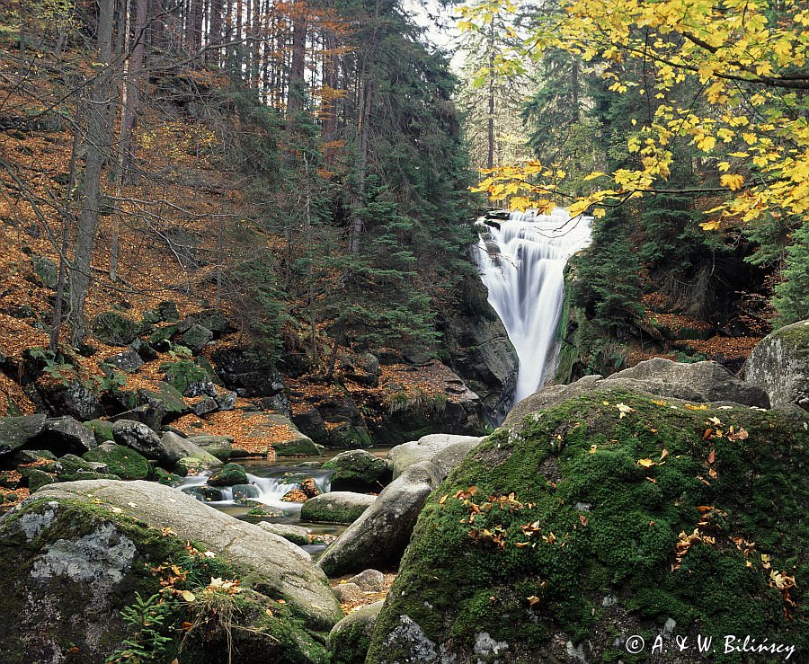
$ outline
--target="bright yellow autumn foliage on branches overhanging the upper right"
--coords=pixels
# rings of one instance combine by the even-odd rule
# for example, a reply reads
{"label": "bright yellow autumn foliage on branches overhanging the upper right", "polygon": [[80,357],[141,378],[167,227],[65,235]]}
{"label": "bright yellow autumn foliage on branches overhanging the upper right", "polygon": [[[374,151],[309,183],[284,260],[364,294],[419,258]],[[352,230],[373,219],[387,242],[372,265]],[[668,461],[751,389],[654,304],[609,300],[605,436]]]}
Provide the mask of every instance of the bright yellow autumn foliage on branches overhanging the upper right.
{"label": "bright yellow autumn foliage on branches overhanging the upper right", "polygon": [[[474,20],[474,15],[470,20]],[[600,61],[610,89],[648,95],[653,113],[627,137],[630,164],[591,173],[596,187],[566,199],[573,214],[608,207],[667,187],[672,146],[686,142],[716,160],[717,186],[690,193],[723,193],[703,227],[725,219],[745,222],[765,214],[800,217],[809,209],[809,126],[805,93],[809,73],[809,9],[796,0],[770,6],[757,0],[573,0],[558,12],[538,14],[526,53],[563,49],[585,63]],[[630,62],[642,81],[622,76]],[[675,91],[692,80],[698,92]],[[487,173],[481,183],[493,199],[511,197],[515,208],[549,208],[559,201],[564,171],[535,162]]]}

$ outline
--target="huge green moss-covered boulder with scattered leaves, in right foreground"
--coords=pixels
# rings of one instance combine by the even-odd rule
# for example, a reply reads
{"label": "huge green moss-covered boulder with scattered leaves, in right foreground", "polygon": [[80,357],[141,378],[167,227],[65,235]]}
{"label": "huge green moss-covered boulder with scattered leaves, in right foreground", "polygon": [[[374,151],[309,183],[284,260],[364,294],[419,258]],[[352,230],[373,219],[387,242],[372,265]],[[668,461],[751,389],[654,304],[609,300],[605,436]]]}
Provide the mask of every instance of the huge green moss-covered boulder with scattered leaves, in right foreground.
{"label": "huge green moss-covered boulder with scattered leaves, in right foreground", "polygon": [[694,661],[674,639],[698,634],[809,651],[805,424],[617,390],[525,413],[432,493],[367,661],[628,662],[635,634],[655,661]]}

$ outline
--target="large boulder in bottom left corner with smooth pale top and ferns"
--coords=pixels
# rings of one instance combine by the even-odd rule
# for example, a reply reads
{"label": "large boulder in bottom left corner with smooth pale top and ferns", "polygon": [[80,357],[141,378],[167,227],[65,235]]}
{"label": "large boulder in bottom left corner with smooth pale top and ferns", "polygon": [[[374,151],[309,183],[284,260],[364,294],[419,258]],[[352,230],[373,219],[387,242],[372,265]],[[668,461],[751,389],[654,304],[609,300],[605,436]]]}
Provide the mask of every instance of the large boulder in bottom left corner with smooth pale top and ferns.
{"label": "large boulder in bottom left corner with smooth pale top and ferns", "polygon": [[156,483],[41,489],[0,519],[0,573],[9,662],[324,663],[342,618],[297,546]]}

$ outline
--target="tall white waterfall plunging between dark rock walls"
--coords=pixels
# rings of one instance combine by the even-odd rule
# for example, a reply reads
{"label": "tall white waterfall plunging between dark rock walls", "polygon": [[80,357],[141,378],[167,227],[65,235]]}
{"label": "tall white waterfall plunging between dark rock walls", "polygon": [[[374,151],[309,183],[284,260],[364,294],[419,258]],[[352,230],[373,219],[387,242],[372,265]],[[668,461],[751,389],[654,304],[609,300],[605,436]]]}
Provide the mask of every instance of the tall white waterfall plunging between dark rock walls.
{"label": "tall white waterfall plunging between dark rock walls", "polygon": [[[556,326],[565,300],[565,263],[591,242],[589,217],[573,219],[562,208],[550,215],[512,212],[508,221],[484,226],[476,261],[520,359],[514,403],[546,380]],[[490,222],[491,224],[491,222]]]}

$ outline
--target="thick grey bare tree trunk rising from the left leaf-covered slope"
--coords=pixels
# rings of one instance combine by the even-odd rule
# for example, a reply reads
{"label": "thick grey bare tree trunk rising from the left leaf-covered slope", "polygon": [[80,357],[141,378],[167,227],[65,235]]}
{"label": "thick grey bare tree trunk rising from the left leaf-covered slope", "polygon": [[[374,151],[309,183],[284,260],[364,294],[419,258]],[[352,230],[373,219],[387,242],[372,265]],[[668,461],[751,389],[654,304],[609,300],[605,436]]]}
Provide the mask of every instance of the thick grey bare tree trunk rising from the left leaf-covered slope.
{"label": "thick grey bare tree trunk rising from the left leaf-covered slope", "polygon": [[101,174],[104,160],[110,147],[108,132],[108,109],[111,92],[112,22],[114,0],[99,0],[98,15],[98,63],[99,70],[90,93],[90,103],[85,113],[86,161],[84,164],[84,199],[76,228],[76,244],[73,265],[70,268],[70,340],[78,346],[86,333],[84,298],[90,288],[93,247],[98,230]]}

